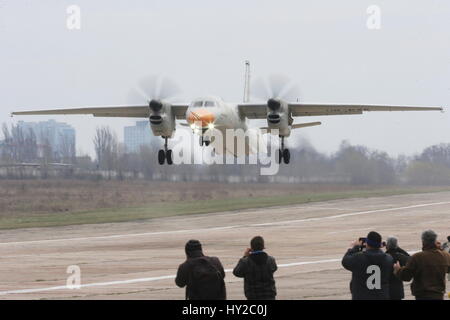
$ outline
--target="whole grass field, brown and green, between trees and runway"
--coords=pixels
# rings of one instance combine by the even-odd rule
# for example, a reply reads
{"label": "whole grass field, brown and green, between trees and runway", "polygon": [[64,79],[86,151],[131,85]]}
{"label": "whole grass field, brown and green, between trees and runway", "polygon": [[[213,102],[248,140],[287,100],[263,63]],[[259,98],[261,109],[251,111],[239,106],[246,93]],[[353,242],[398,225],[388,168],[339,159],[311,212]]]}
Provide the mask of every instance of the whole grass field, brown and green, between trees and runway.
{"label": "whole grass field, brown and green, between trees and runway", "polygon": [[0,229],[123,222],[449,190],[450,187],[1,180]]}

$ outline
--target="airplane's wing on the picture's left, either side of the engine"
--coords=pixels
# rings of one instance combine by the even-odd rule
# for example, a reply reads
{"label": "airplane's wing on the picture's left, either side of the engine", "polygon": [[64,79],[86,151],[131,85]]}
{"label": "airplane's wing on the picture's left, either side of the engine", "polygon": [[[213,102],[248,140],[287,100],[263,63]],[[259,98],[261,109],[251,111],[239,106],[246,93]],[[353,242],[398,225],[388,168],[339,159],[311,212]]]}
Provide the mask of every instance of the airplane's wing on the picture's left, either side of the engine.
{"label": "airplane's wing on the picture's left, either side of the engine", "polygon": [[[184,119],[187,104],[171,105],[172,112],[177,119]],[[84,107],[75,109],[53,109],[37,111],[13,112],[12,115],[67,115],[67,114],[90,114],[94,117],[123,117],[123,118],[148,118],[150,109],[148,105],[138,106],[106,106],[106,107]]]}

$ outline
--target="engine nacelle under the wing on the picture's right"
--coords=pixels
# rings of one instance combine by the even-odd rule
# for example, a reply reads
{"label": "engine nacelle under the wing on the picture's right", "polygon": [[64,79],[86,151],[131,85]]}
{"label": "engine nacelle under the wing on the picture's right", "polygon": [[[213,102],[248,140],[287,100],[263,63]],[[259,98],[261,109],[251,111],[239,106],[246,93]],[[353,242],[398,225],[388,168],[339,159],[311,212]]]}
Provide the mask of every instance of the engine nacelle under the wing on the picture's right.
{"label": "engine nacelle under the wing on the picture's right", "polygon": [[289,114],[289,106],[279,99],[267,101],[267,125],[269,129],[278,129],[279,135],[288,137],[291,134],[292,118]]}

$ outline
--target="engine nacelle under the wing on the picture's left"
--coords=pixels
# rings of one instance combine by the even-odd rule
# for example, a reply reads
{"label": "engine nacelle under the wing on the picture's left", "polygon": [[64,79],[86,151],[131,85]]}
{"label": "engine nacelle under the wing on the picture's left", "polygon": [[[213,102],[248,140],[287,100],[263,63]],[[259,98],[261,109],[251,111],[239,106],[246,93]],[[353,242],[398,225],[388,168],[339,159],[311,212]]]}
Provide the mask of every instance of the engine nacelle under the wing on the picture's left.
{"label": "engine nacelle under the wing on the picture's left", "polygon": [[155,136],[172,137],[175,133],[175,115],[170,103],[152,100],[150,108],[150,127]]}

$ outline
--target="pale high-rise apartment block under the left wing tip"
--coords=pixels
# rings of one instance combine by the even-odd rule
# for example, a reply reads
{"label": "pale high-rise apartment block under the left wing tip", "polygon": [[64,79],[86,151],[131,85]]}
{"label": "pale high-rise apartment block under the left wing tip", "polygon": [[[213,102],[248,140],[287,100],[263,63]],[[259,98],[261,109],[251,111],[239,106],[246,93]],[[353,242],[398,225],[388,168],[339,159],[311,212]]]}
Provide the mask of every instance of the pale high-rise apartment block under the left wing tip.
{"label": "pale high-rise apartment block under the left wing tip", "polygon": [[51,152],[54,159],[75,157],[75,129],[64,122],[55,120],[40,122],[19,121],[17,127],[24,135],[28,135],[30,130],[36,136],[39,156],[46,152]]}

